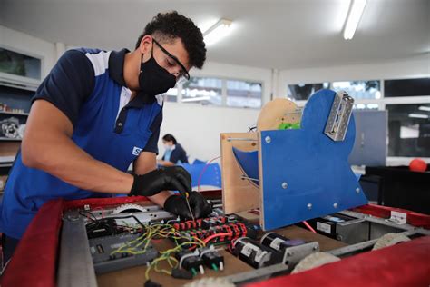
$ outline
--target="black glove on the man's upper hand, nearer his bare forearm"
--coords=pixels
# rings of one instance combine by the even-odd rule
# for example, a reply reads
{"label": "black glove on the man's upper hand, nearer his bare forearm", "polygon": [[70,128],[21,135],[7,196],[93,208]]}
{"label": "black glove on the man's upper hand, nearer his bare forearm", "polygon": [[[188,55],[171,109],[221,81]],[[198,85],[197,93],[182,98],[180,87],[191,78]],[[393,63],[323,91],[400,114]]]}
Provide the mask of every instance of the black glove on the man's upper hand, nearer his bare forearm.
{"label": "black glove on the man's upper hand, nearer his bare forearm", "polygon": [[181,166],[161,167],[150,173],[133,176],[129,195],[151,196],[162,191],[191,192],[191,175]]}

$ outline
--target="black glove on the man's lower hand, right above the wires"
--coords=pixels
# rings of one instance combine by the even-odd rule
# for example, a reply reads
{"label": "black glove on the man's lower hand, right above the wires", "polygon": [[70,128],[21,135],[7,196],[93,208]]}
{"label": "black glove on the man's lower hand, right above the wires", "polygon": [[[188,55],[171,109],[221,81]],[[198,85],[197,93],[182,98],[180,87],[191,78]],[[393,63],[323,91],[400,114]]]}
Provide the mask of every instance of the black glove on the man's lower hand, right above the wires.
{"label": "black glove on the man's lower hand, right above the wires", "polygon": [[[206,217],[212,213],[212,206],[200,193],[191,192],[188,200],[194,218]],[[184,194],[171,195],[167,198],[164,203],[164,210],[184,218],[192,218]]]}

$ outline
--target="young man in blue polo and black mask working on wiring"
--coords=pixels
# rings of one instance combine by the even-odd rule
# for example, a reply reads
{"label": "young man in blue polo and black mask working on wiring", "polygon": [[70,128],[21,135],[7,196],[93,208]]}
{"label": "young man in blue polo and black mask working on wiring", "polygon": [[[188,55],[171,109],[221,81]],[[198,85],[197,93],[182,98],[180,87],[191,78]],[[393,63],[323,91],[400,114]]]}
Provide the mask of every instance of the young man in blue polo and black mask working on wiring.
{"label": "young man in blue polo and black mask working on wiring", "polygon": [[[162,96],[206,48],[200,29],[177,12],[158,14],[130,52],[70,50],[38,88],[20,153],[0,203],[5,262],[40,207],[49,200],[147,196],[171,213],[211,213],[181,167],[156,169]],[[133,174],[126,173],[133,163]]]}

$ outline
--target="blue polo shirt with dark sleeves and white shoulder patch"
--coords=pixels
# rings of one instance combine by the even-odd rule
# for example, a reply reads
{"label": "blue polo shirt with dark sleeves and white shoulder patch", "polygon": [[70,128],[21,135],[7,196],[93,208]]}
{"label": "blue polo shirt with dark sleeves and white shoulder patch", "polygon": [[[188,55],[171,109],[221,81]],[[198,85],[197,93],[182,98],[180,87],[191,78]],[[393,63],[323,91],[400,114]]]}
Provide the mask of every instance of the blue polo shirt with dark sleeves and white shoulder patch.
{"label": "blue polo shirt with dark sleeves and white shoulder patch", "polygon": [[[54,104],[73,124],[73,142],[95,160],[126,172],[142,151],[157,153],[162,96],[135,96],[123,78],[124,56],[94,49],[70,50],[54,65],[33,102]],[[103,191],[101,191],[103,192]],[[18,153],[0,203],[0,232],[19,239],[49,200],[108,197],[26,167]]]}

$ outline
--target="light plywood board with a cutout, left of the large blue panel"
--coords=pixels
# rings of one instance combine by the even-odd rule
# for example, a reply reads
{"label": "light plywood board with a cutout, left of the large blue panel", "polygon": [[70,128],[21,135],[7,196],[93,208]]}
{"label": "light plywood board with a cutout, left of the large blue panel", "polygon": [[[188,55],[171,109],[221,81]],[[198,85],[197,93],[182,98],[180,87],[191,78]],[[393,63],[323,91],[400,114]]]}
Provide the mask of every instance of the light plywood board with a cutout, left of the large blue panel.
{"label": "light plywood board with a cutout, left of the large blue panel", "polygon": [[[229,141],[230,138],[254,141]],[[257,150],[257,133],[220,134],[222,204],[224,213],[238,213],[259,207],[259,188],[247,180],[233,154],[233,146],[242,151]]]}

